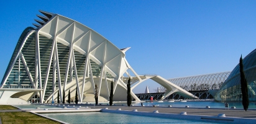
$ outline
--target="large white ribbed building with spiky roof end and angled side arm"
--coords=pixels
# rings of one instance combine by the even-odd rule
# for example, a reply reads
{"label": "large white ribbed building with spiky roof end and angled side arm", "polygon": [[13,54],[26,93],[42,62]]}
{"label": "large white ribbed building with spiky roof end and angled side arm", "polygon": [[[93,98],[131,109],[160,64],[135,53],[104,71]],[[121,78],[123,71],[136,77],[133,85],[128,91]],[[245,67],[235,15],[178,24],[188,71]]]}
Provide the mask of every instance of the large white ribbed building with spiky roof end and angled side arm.
{"label": "large white ribbed building with spiky roof end and angled side arm", "polygon": [[[114,82],[114,101],[126,101],[127,80],[131,90],[147,79],[167,89],[166,95],[196,96],[157,75],[138,75],[126,60],[129,48],[117,48],[99,33],[75,20],[59,14],[40,11],[36,28],[22,32],[1,82],[0,104],[35,96],[40,102],[57,101],[65,92],[79,102],[94,102],[95,84],[99,102],[109,100],[110,84]],[[138,63],[139,64],[139,63]],[[134,75],[134,76],[132,76]],[[138,97],[131,92],[133,99]],[[62,102],[62,99],[60,99]]]}

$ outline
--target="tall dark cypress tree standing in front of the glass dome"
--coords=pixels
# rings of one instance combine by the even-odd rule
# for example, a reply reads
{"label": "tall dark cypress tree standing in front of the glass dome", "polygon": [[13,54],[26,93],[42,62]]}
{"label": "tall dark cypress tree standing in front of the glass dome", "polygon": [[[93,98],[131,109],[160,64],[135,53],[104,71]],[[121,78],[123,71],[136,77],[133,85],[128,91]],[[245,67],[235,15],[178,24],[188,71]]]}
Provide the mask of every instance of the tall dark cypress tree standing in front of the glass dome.
{"label": "tall dark cypress tree standing in front of the glass dome", "polygon": [[240,66],[240,78],[241,78],[240,83],[241,83],[241,92],[242,92],[242,104],[244,106],[244,110],[247,111],[249,106],[248,84],[247,84],[247,80],[245,79],[242,55],[240,57],[239,66]]}

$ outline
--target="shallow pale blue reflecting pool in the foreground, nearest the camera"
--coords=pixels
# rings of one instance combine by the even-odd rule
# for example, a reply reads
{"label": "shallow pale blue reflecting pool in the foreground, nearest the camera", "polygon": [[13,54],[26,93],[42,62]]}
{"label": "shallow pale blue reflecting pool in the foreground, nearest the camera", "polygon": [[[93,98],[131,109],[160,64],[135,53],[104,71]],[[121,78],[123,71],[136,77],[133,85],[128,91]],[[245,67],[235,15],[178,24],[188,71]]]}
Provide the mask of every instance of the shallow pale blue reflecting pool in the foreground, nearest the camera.
{"label": "shallow pale blue reflecting pool in the foreground, nearest the camera", "polygon": [[66,123],[214,123],[107,112],[40,113]]}

